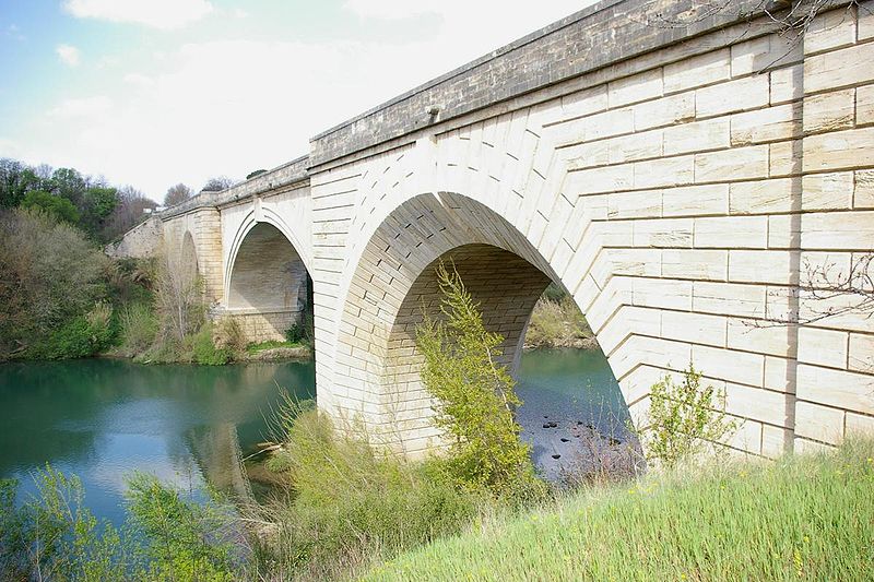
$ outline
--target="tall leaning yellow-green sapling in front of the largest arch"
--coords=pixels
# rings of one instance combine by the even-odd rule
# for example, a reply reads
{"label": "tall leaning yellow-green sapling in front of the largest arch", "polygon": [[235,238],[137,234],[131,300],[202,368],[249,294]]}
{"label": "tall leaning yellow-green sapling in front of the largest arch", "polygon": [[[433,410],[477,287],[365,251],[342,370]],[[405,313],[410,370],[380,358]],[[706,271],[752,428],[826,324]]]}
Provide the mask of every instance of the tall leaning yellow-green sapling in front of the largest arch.
{"label": "tall leaning yellow-green sapling in front of the largest arch", "polygon": [[485,487],[498,497],[539,489],[519,439],[513,411],[521,404],[515,381],[499,364],[504,337],[489,333],[458,272],[437,266],[445,321],[425,313],[416,330],[424,357],[422,382],[437,401],[436,425],[450,440],[446,468],[464,487]]}

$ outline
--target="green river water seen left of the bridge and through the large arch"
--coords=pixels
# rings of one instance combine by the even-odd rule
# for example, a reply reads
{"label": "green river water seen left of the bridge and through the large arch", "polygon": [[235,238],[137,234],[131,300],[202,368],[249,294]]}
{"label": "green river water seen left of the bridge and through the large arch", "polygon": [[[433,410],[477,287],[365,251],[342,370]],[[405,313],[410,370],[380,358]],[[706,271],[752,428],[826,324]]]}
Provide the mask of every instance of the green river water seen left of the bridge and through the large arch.
{"label": "green river water seen left of the bridge and through the large arch", "polygon": [[[50,463],[82,479],[98,518],[123,520],[125,476],[225,490],[247,487],[238,463],[270,438],[268,418],[282,387],[315,392],[308,363],[224,367],[142,366],[117,359],[0,365],[0,477],[34,491],[32,473]],[[518,418],[535,462],[555,475],[581,424],[622,433],[627,411],[600,351],[536,351],[522,356]],[[556,423],[556,427],[543,425]],[[562,439],[566,439],[563,441]],[[560,455],[559,460],[553,459]]]}

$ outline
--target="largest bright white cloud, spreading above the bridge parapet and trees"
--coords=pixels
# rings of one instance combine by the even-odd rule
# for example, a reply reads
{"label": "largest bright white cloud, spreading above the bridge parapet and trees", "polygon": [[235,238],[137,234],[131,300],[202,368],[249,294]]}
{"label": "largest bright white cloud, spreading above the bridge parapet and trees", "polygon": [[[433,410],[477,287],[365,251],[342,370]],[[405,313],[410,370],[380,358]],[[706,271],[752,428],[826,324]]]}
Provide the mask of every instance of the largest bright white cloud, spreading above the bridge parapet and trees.
{"label": "largest bright white cloud, spreading above the bridge parapet and trees", "polygon": [[440,7],[440,26],[404,44],[252,38],[155,47],[135,69],[105,69],[102,96],[61,102],[42,127],[8,136],[26,145],[29,162],[103,173],[160,200],[179,181],[199,188],[211,176],[241,178],[306,154],[316,133],[582,5],[553,0],[507,11],[496,0],[465,9],[447,2],[421,4]]}

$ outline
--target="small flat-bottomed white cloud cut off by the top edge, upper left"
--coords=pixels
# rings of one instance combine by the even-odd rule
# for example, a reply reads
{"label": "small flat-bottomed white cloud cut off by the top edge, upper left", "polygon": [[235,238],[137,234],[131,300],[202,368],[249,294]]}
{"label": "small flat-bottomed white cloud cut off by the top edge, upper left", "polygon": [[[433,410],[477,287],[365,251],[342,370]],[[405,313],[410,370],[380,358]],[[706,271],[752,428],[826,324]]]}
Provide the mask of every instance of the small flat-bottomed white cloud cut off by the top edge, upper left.
{"label": "small flat-bottomed white cloud cut off by the top edge, upper left", "polygon": [[162,29],[180,28],[213,11],[206,0],[66,0],[79,19],[135,23]]}

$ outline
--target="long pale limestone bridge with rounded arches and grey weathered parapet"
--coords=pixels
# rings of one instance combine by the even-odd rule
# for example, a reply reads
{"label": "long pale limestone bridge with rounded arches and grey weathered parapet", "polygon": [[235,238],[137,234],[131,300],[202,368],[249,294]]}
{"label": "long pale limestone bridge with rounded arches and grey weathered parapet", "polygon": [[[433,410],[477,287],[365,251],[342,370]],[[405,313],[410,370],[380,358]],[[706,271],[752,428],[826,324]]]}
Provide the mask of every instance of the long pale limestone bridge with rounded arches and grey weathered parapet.
{"label": "long pale limestone bridge with rounded arches and grey weathered parapet", "polygon": [[816,292],[874,250],[874,2],[836,1],[801,38],[759,0],[696,4],[605,0],[116,251],[162,239],[251,338],[311,294],[319,406],[411,453],[438,439],[413,330],[448,259],[510,365],[544,287],[566,289],[633,416],[693,363],[744,420],[736,449],[874,430],[874,318]]}

